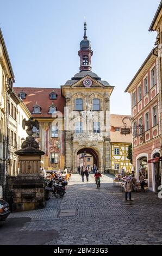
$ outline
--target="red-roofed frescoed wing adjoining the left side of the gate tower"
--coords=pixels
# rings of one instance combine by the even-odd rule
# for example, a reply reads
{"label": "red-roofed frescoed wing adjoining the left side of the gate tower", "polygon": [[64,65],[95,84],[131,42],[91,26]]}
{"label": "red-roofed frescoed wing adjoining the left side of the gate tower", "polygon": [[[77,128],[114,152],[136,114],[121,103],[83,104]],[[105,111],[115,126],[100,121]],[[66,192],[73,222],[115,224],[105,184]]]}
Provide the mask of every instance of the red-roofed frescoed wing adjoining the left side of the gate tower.
{"label": "red-roofed frescoed wing adjoining the left side of the gate tower", "polygon": [[42,166],[46,170],[65,168],[64,106],[61,90],[51,88],[14,88],[30,114],[39,121],[40,128],[33,128],[34,137],[39,142]]}

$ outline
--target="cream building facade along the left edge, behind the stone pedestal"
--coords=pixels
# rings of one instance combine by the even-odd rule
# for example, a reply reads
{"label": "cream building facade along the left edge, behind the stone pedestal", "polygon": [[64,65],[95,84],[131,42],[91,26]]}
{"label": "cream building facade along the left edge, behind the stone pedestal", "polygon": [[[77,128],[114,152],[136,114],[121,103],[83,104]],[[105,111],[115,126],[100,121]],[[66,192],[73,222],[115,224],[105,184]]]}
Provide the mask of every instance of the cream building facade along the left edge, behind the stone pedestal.
{"label": "cream building facade along the left edge, behind the stone pedestal", "polygon": [[3,192],[6,177],[18,173],[18,161],[15,155],[18,136],[26,136],[22,125],[18,127],[18,109],[23,117],[30,117],[28,108],[14,92],[14,82],[14,72],[0,29],[0,186]]}

